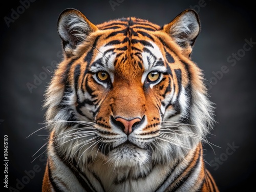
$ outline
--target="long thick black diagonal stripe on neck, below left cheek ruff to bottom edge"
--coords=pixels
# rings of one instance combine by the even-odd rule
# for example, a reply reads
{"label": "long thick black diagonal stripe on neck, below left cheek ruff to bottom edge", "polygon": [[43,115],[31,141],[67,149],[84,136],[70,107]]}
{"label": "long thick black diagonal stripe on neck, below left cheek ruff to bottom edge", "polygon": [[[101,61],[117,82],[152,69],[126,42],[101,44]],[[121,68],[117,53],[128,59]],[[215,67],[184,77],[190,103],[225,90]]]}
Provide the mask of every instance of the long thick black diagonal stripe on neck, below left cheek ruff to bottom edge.
{"label": "long thick black diagonal stripe on neck, below left cheek ruff to bottom edge", "polygon": [[[68,160],[65,154],[61,153],[59,150],[57,150],[57,144],[55,143],[55,141],[53,141],[53,145],[54,145],[54,149],[55,149],[55,154],[58,156],[58,158],[69,167],[69,169],[71,170],[71,172],[73,173],[73,175],[76,177],[77,181],[81,184],[81,186],[87,191],[87,192],[95,192],[95,188],[93,187],[93,185],[90,183],[89,179],[87,178],[87,176],[81,172],[80,168],[77,167],[77,163],[75,162],[75,160]],[[82,174],[82,176],[86,179],[86,181],[80,176],[80,174]]]}

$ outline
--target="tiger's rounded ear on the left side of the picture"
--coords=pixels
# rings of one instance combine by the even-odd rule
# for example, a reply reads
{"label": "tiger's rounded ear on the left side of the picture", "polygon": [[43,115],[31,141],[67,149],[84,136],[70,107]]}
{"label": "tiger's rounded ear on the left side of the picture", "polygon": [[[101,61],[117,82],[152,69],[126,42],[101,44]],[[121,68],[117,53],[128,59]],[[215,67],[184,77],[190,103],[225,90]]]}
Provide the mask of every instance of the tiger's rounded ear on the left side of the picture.
{"label": "tiger's rounded ear on the left side of the picture", "polygon": [[98,28],[76,9],[62,11],[58,18],[58,33],[66,55],[72,55],[78,45]]}

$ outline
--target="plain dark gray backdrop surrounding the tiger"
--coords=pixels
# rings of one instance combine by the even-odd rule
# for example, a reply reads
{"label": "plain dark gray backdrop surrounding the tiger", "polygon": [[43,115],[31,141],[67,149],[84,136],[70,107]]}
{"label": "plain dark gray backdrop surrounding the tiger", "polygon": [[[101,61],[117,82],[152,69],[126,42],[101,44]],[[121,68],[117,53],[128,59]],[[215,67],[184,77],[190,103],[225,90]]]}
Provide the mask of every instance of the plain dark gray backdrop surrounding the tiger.
{"label": "plain dark gray backdrop surrounding the tiger", "polygon": [[[213,166],[207,163],[206,166],[221,191],[245,191],[249,186],[254,188],[256,45],[243,51],[245,39],[256,42],[252,4],[246,1],[124,0],[113,10],[108,0],[37,0],[30,3],[8,27],[4,17],[11,18],[12,9],[17,10],[20,5],[19,1],[10,1],[7,6],[1,6],[1,148],[4,147],[4,135],[8,135],[8,186],[13,187],[13,190],[7,191],[41,190],[46,160],[40,155],[45,147],[36,152],[47,142],[48,133],[43,129],[28,136],[44,126],[41,124],[45,113],[42,101],[51,74],[44,76],[42,67],[61,60],[56,23],[59,13],[66,8],[80,10],[94,24],[117,17],[137,16],[164,25],[183,10],[194,7],[199,13],[202,30],[192,59],[203,70],[206,82],[214,84],[208,88],[210,100],[216,103],[217,123],[208,137],[213,149],[204,144],[205,162],[211,162]],[[19,11],[23,11],[22,8]],[[227,60],[232,53],[241,56],[235,66],[231,66],[234,61]],[[222,77],[218,73],[221,78],[216,81],[212,77],[225,68],[223,66],[228,72]],[[40,74],[46,79],[38,82],[37,88],[30,93],[27,83],[34,84],[35,76]],[[229,145],[239,148],[232,151]],[[217,163],[216,158],[221,162]]]}

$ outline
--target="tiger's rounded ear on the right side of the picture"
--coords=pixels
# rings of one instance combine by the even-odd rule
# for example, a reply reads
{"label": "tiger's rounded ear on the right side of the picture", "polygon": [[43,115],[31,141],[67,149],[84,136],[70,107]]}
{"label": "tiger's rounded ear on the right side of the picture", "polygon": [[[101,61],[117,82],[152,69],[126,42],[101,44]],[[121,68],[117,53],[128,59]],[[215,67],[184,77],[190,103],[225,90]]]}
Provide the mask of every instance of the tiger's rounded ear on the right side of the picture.
{"label": "tiger's rounded ear on the right side of the picture", "polygon": [[163,30],[182,48],[183,54],[190,56],[194,42],[200,32],[200,20],[193,9],[187,9],[164,25]]}

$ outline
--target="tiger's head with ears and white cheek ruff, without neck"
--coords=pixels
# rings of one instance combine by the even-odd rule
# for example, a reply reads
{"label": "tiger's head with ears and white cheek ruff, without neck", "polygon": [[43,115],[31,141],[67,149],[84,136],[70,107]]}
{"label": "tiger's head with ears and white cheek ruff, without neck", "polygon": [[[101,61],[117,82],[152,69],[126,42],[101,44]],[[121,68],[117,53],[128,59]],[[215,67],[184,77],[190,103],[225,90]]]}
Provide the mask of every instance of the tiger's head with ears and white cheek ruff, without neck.
{"label": "tiger's head with ears and white cheek ruff, without neck", "polygon": [[82,165],[182,159],[214,122],[202,72],[190,58],[199,31],[194,10],[163,27],[134,17],[94,25],[77,10],[63,11],[64,58],[45,103],[50,144]]}

